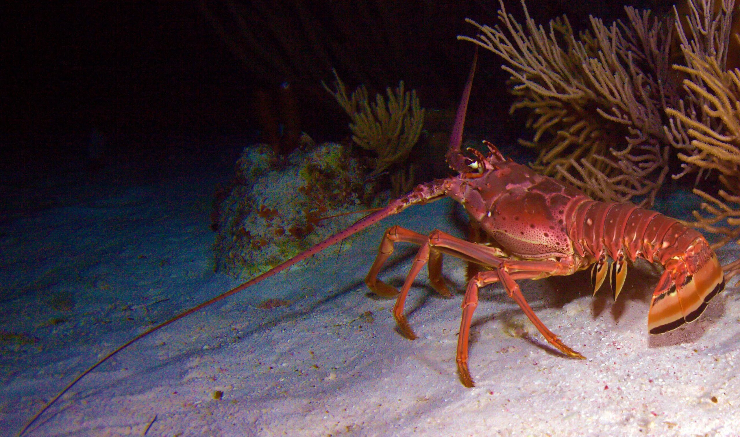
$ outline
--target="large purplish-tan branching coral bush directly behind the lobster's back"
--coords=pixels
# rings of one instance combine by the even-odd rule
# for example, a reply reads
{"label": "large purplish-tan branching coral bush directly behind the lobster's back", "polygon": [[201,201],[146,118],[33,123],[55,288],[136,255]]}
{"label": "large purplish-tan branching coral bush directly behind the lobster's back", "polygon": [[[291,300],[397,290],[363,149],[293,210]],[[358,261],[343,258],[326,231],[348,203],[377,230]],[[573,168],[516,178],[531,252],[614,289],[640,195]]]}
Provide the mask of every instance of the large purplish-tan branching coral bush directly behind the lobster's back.
{"label": "large purplish-tan branching coral bush directly behind the lobster's back", "polygon": [[576,38],[565,16],[545,30],[522,1],[522,26],[499,1],[503,29],[468,20],[481,34],[458,38],[506,61],[511,111],[531,111],[534,141],[520,142],[539,148],[534,168],[602,200],[653,203],[668,172],[663,108],[676,101],[667,21],[628,7],[628,24],[591,17],[593,33]]}

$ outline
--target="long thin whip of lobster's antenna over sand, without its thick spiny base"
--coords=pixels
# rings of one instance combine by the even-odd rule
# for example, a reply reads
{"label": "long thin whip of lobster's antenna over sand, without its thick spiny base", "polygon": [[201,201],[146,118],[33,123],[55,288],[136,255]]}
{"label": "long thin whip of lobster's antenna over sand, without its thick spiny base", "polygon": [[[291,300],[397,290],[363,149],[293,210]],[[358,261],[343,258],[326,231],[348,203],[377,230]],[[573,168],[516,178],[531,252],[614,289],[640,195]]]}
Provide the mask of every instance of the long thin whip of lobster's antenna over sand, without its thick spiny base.
{"label": "long thin whip of lobster's antenna over sand, without its thick spiny base", "polygon": [[303,252],[297,257],[291,258],[290,260],[287,260],[286,262],[283,262],[282,264],[271,268],[269,271],[266,271],[265,273],[260,274],[260,276],[255,277],[253,280],[244,282],[242,285],[239,285],[238,287],[232,288],[231,290],[226,291],[222,294],[219,294],[218,296],[212,299],[206,300],[206,302],[201,303],[201,305],[190,308],[189,310],[184,311],[183,313],[180,313],[177,316],[174,316],[169,320],[161,322],[159,325],[156,325],[153,328],[149,328],[147,329],[147,331],[144,331],[143,333],[140,333],[138,336],[135,336],[133,339],[129,340],[128,342],[125,342],[123,345],[119,346],[118,348],[113,350],[111,353],[107,354],[106,356],[98,360],[98,362],[96,362],[90,368],[80,373],[78,377],[73,379],[72,382],[70,382],[67,385],[67,387],[64,387],[64,389],[61,390],[61,392],[59,392],[58,395],[54,396],[53,399],[47,402],[47,404],[44,405],[44,407],[41,408],[41,410],[39,410],[38,413],[36,413],[36,415],[34,415],[30,419],[30,421],[28,421],[28,423],[26,424],[26,426],[23,427],[21,432],[18,433],[18,436],[19,437],[23,436],[23,434],[28,430],[28,428],[31,425],[33,425],[33,423],[36,422],[36,420],[39,417],[41,417],[41,415],[44,414],[46,410],[48,410],[59,398],[61,398],[61,396],[64,396],[64,393],[67,393],[67,391],[69,391],[72,387],[74,387],[75,384],[77,384],[81,379],[87,376],[88,373],[92,372],[92,370],[95,370],[99,365],[103,364],[104,362],[107,362],[108,359],[112,358],[113,356],[121,352],[121,350],[128,348],[129,345],[131,345],[132,343],[137,342],[140,339],[143,339],[145,336],[148,336],[150,333],[159,331],[161,328],[164,328],[166,325],[169,325],[170,323],[177,322],[179,319],[182,319],[185,316],[189,316],[190,314],[195,313],[195,311],[199,311],[203,308],[206,308],[207,306],[212,305],[220,300],[226,299],[226,297],[232,296],[233,294],[237,294],[238,292],[244,290],[245,288],[249,288],[258,282],[262,282],[263,280],[266,280],[267,278],[277,273],[280,273],[280,271],[283,271],[286,268],[289,268],[292,265],[297,264],[298,262],[306,260],[314,256],[315,254],[319,253],[320,251],[323,251],[324,249],[328,248],[329,246],[339,243],[340,241],[351,236],[352,234],[362,231],[364,228],[367,228],[368,226],[372,226],[375,223],[379,222],[380,220],[383,220],[384,218],[388,217],[389,215],[397,214],[398,212],[400,212],[400,209],[397,206],[397,204],[391,202],[390,205],[386,206],[380,211],[374,212],[373,214],[369,214],[368,216],[363,217],[362,219],[358,220],[357,223],[354,223],[354,225],[350,226],[349,228],[346,228],[343,231],[340,231],[337,234],[332,235],[326,240],[323,240],[321,243],[318,243],[312,246],[312,248],[309,248],[309,250]]}

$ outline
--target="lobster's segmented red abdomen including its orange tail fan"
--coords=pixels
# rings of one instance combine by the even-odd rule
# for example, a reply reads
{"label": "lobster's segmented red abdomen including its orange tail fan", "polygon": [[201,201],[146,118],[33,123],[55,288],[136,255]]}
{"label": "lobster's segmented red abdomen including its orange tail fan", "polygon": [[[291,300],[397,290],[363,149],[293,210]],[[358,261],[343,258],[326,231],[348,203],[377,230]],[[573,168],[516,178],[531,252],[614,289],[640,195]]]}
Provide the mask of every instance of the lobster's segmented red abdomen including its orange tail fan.
{"label": "lobster's segmented red abdomen including its orange tail fan", "polygon": [[[566,220],[573,249],[595,260],[594,293],[610,277],[614,297],[638,257],[664,266],[647,315],[650,333],[672,331],[702,314],[724,288],[724,273],[698,231],[670,217],[628,203],[582,202]],[[608,267],[607,257],[614,262]]]}

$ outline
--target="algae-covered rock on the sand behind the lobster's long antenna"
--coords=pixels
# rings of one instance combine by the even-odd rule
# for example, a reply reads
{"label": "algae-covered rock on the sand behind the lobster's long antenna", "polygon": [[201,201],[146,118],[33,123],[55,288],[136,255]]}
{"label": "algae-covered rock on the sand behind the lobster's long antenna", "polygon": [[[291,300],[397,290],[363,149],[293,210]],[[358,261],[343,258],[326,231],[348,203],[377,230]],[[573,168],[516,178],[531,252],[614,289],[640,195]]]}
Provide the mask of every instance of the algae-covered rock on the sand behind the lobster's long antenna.
{"label": "algae-covered rock on the sand behind the lobster's long antenna", "polygon": [[[215,265],[234,277],[268,271],[363,217],[335,214],[383,206],[387,196],[364,181],[366,168],[345,146],[323,143],[281,162],[269,146],[244,149],[235,184],[221,203]],[[351,243],[345,241],[343,248]],[[336,254],[338,245],[314,257]],[[303,262],[305,265],[306,262]]]}

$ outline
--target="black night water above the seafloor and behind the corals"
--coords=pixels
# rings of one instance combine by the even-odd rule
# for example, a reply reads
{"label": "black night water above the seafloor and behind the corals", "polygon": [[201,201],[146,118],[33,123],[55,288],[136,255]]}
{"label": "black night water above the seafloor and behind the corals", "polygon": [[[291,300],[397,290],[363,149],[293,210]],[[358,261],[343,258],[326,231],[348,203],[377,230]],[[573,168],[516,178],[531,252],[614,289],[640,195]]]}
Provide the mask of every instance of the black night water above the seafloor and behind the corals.
{"label": "black night water above the seafloor and behind the corals", "polygon": [[[531,0],[528,7],[539,24],[567,13],[573,27],[585,28],[589,13],[622,18],[624,4]],[[522,20],[518,1],[506,7]],[[235,138],[260,139],[266,108],[255,94],[272,95],[284,83],[295,94],[300,129],[337,140],[349,134],[349,118],[320,85],[334,80],[332,68],[350,90],[364,83],[372,95],[404,80],[423,107],[454,107],[474,48],[455,36],[474,35],[465,17],[495,24],[498,3],[19,1],[3,8],[0,160],[9,168],[84,158],[92,129],[109,154],[218,153]],[[471,117],[516,140],[523,115],[508,115],[508,75],[493,53],[480,58]]]}

